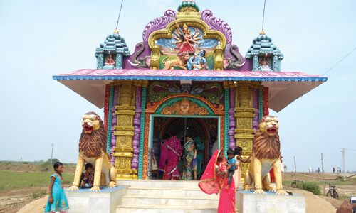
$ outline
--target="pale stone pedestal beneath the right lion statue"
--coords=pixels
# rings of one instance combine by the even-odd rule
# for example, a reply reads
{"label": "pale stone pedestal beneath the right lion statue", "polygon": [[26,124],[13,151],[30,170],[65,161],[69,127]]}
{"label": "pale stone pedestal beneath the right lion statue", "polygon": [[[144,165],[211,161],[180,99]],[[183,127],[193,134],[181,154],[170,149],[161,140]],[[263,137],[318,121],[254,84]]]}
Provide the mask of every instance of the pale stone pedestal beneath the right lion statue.
{"label": "pale stone pedestal beneath the right lion statue", "polygon": [[273,213],[305,213],[305,197],[302,195],[276,195],[276,192],[266,192],[255,195],[253,191],[236,192],[236,209],[239,213],[273,212]]}

